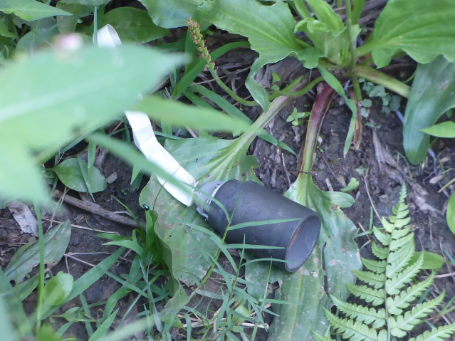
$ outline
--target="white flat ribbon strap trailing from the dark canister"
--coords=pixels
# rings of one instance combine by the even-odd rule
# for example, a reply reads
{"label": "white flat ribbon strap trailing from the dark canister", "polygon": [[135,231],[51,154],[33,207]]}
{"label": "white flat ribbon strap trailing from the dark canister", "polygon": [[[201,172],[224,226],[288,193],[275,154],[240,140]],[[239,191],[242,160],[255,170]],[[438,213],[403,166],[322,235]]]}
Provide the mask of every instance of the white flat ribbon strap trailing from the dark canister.
{"label": "white flat ribbon strap trailing from the dark canister", "polygon": [[[122,41],[113,28],[113,26],[106,25],[97,31],[98,46],[115,48],[121,45]],[[150,161],[157,164],[158,167],[163,169],[168,174],[171,174],[174,179],[184,182],[185,184],[196,184],[196,180],[189,174],[169,152],[167,152],[162,145],[159,144],[155,133],[152,129],[149,117],[144,112],[125,111],[128,122],[132,128],[132,133],[135,138],[135,145]],[[161,177],[157,177],[158,181],[164,189],[169,192],[175,199],[182,204],[191,206],[194,202],[194,190],[188,187],[185,191],[174,184],[166,182]]]}

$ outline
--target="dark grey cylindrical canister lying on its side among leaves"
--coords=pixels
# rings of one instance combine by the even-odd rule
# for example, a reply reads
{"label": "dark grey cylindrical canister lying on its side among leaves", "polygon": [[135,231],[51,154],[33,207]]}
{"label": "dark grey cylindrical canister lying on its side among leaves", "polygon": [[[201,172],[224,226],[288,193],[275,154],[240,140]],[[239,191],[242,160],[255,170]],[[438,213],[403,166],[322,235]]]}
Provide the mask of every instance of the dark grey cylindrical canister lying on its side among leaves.
{"label": "dark grey cylindrical canister lying on its side among leaves", "polygon": [[[261,224],[228,231],[228,243],[246,243],[281,248],[253,248],[249,253],[259,258],[273,258],[273,264],[286,271],[296,271],[305,263],[318,241],[320,216],[296,201],[282,196],[256,182],[210,182],[202,192],[211,194],[231,216],[230,226],[251,221],[297,219],[274,224]],[[209,225],[222,235],[229,220],[215,201],[198,194],[204,200],[197,211]]]}

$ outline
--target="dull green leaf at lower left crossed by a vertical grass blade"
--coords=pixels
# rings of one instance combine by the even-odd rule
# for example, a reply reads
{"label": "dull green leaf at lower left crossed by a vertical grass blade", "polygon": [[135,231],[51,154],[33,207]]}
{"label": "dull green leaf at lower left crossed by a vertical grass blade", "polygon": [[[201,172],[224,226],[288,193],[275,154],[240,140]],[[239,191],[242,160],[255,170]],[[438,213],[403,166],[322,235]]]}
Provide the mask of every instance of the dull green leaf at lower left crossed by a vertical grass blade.
{"label": "dull green leaf at lower left crossed by a vertical grass blade", "polygon": [[[54,265],[58,263],[66,252],[71,236],[69,220],[63,221],[44,235],[44,262]],[[39,245],[37,242],[28,246],[25,251],[19,250],[5,269],[5,276],[9,280],[22,282],[27,273],[39,264]]]}

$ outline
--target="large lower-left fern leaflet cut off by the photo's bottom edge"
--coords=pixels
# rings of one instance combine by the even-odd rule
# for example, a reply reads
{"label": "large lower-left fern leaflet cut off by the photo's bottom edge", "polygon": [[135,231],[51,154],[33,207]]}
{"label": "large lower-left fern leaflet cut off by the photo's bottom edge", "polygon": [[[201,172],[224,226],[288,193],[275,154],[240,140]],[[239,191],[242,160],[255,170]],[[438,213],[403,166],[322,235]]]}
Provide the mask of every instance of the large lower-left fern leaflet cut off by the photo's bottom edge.
{"label": "large lower-left fern leaflet cut off by the photo's bottom edge", "polygon": [[338,316],[333,315],[327,309],[325,309],[325,315],[327,315],[330,325],[338,330],[338,332],[342,332],[342,336],[346,339],[350,339],[351,341],[382,341],[382,338],[380,339],[375,329],[369,328],[362,322],[354,322],[354,320],[347,318],[338,318]]}

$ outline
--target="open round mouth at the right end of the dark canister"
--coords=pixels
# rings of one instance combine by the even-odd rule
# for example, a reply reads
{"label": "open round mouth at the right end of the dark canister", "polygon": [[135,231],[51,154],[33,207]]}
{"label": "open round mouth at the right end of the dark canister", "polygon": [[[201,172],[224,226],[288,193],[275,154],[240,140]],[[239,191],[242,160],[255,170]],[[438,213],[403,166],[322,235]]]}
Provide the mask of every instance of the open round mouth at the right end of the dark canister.
{"label": "open round mouth at the right end of the dark canister", "polygon": [[318,241],[319,231],[320,219],[318,216],[308,216],[300,223],[286,251],[285,261],[289,262],[285,263],[287,271],[296,271],[305,263]]}

